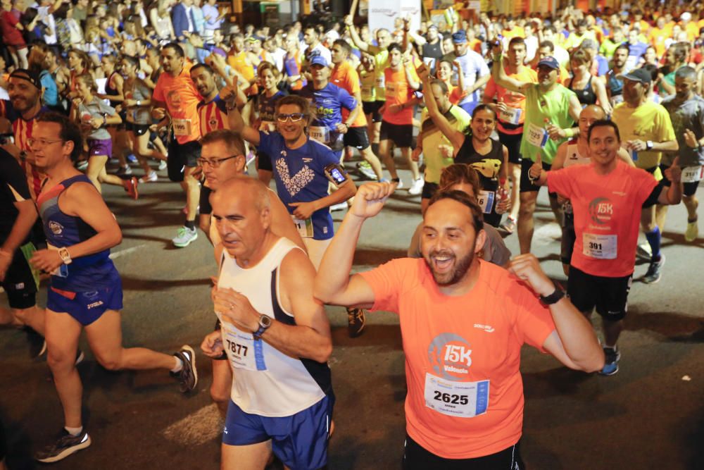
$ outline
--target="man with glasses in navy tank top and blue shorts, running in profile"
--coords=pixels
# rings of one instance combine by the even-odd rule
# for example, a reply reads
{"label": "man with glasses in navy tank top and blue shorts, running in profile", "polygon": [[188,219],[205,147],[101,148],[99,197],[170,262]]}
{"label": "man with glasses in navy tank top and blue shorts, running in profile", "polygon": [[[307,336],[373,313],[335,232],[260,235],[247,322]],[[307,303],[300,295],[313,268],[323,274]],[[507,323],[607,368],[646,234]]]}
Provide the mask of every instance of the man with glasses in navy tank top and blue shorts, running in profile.
{"label": "man with glasses in navy tank top and blue shorts, running in profile", "polygon": [[35,455],[39,462],[51,463],[91,444],[82,424],[82,383],[75,368],[82,330],[98,362],[110,371],[170,370],[182,392],[195,388],[198,375],[195,353],[188,345],[172,356],[122,347],[122,282],[109,257],[110,249],[122,241],[122,233],[100,193],[73,167],[83,150],[80,129],[61,114],[44,113],[37,118],[30,144],[37,166],[47,175],[37,206],[49,244],[48,249],[34,252],[30,263],[51,273],[45,321],[47,362],[65,420],[56,441]]}

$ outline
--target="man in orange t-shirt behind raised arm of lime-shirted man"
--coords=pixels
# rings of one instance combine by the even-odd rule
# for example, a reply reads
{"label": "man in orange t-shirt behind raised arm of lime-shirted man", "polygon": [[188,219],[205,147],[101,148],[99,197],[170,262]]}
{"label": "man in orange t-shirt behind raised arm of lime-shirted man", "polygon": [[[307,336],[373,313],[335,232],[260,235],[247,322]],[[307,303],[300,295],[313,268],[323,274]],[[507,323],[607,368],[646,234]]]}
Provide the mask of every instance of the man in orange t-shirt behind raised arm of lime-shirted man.
{"label": "man in orange t-shirt behind raised arm of lime-shirted man", "polygon": [[[538,82],[538,73],[523,65],[526,58],[526,44],[521,37],[514,37],[508,42],[508,57],[504,69],[509,77],[522,82]],[[484,103],[491,104],[496,97],[496,131],[498,140],[508,149],[508,177],[511,180],[511,211],[501,228],[513,233],[520,207],[519,185],[521,180],[521,139],[523,121],[526,112],[526,97],[522,93],[511,92],[496,85],[494,78],[489,78],[484,89]]]}

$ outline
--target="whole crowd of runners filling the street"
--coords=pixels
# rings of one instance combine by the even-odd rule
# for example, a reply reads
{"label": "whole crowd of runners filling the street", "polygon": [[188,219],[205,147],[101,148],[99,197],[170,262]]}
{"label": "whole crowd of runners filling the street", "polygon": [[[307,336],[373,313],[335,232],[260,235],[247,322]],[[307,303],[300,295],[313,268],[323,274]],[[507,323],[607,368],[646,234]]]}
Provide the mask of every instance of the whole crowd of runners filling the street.
{"label": "whole crowd of runners filling the street", "polygon": [[[704,9],[636,1],[517,18],[458,6],[419,29],[399,17],[371,31],[355,11],[240,30],[219,8],[2,0],[0,323],[45,338],[64,415],[36,459],[91,444],[82,330],[106,369],[165,369],[182,392],[198,383],[189,345],[122,346],[108,257],[122,235],[102,186],[137,199],[168,178],[184,192],[173,245],[200,231],[218,259],[201,351],[223,469],[263,469],[272,454],[289,469],[326,465],[324,304],[347,308],[351,337],[366,309],[399,315],[404,469],[524,468],[520,347],[617,373],[636,256],[657,283],[667,206],[683,202],[684,240],[698,237]],[[531,254],[543,185],[566,291]],[[409,257],[350,276],[364,221],[403,191],[422,216]],[[335,210],[347,211],[337,233]]]}

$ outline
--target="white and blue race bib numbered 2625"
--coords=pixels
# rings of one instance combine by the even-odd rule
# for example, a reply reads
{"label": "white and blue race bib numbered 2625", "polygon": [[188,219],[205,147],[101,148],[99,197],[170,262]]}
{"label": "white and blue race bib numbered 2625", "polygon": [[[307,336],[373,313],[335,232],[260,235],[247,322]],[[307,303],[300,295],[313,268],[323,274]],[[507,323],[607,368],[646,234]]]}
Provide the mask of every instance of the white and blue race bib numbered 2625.
{"label": "white and blue race bib numbered 2625", "polygon": [[455,382],[425,374],[425,406],[447,416],[473,418],[489,407],[489,381]]}

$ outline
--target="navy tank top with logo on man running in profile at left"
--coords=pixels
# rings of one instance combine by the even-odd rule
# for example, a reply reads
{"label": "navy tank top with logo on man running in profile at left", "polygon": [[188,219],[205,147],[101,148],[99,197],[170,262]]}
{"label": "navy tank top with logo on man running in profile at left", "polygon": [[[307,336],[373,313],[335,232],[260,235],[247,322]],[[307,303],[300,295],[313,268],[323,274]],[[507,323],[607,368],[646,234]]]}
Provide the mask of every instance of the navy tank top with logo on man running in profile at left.
{"label": "navy tank top with logo on man running in profile at left", "polygon": [[[58,206],[61,193],[74,183],[92,185],[86,175],[76,175],[46,192],[42,191],[37,197],[39,216],[42,218],[46,242],[50,248],[71,247],[97,233],[82,218],[64,214]],[[62,265],[58,271],[52,273],[51,287],[67,292],[87,292],[111,287],[115,282],[119,282],[120,275],[109,256],[110,250],[104,249],[98,253],[74,258],[71,264]]]}

